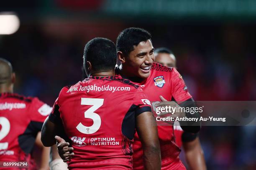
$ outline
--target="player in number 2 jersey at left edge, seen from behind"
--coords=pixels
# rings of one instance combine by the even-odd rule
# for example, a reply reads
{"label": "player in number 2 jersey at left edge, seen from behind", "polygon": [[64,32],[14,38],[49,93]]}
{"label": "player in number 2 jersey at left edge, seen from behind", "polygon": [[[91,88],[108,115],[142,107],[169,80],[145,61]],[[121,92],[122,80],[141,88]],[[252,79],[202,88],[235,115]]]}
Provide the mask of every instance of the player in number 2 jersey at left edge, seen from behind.
{"label": "player in number 2 jersey at left edge, seen from behind", "polygon": [[40,131],[51,107],[37,97],[13,93],[14,83],[12,65],[0,58],[0,161],[26,161],[28,169],[33,169],[29,164],[36,143],[42,148],[40,169],[48,170],[49,148],[36,139],[41,138]]}

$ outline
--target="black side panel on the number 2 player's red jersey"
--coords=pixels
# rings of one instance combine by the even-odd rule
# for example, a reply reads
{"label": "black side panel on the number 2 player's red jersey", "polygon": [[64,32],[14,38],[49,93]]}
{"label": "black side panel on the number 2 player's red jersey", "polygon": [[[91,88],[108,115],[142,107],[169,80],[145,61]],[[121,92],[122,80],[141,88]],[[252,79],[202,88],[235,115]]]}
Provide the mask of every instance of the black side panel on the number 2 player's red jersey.
{"label": "black side panel on the number 2 player's red jersey", "polygon": [[42,126],[43,122],[31,121],[28,124],[25,132],[18,136],[18,143],[20,145],[20,148],[26,154],[31,153],[36,140],[36,135],[38,132],[41,131]]}

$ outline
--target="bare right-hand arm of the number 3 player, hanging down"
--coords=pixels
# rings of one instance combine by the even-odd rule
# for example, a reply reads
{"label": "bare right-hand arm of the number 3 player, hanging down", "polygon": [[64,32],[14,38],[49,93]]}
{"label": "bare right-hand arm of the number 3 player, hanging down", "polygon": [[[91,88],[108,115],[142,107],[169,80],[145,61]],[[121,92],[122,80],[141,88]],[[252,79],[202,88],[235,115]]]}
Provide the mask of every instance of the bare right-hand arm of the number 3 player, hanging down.
{"label": "bare right-hand arm of the number 3 player, hanging down", "polygon": [[152,112],[143,112],[136,117],[136,129],[143,147],[145,170],[161,169],[161,154],[156,120]]}

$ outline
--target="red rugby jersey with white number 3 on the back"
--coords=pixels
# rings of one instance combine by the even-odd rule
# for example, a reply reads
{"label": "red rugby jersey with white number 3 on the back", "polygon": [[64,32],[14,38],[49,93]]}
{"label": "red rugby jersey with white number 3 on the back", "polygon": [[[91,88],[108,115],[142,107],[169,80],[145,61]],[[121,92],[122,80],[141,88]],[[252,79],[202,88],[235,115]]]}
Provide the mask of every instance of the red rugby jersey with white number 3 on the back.
{"label": "red rugby jersey with white number 3 on the back", "polygon": [[[132,169],[136,116],[151,111],[141,87],[118,76],[90,76],[64,87],[49,120],[72,140],[69,169]],[[59,119],[60,117],[61,119]]]}

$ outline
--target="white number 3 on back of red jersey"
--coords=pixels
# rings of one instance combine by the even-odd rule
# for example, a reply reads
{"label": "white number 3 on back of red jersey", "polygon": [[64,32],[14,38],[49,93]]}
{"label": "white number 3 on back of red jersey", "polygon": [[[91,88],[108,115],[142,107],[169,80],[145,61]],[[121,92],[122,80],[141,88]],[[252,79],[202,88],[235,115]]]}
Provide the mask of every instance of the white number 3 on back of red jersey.
{"label": "white number 3 on back of red jersey", "polygon": [[88,110],[84,112],[85,118],[90,118],[93,120],[92,126],[84,126],[81,122],[77,125],[77,130],[84,134],[92,134],[100,129],[101,119],[100,116],[94,111],[103,105],[104,99],[94,99],[94,98],[81,98],[81,105],[92,105]]}

